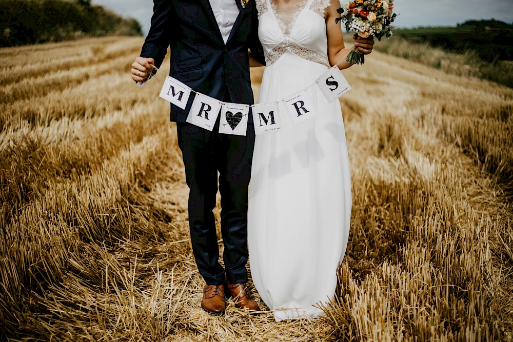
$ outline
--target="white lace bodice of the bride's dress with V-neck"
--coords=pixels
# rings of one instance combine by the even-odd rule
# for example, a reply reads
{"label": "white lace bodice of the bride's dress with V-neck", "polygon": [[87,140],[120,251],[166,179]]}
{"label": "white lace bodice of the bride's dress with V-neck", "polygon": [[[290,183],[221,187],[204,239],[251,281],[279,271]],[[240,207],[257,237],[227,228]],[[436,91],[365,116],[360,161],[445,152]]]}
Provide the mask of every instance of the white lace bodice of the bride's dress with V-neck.
{"label": "white lace bodice of the bride's dress with V-neck", "polygon": [[290,52],[329,67],[324,11],[330,0],[303,0],[291,9],[279,9],[271,0],[255,1],[267,66]]}

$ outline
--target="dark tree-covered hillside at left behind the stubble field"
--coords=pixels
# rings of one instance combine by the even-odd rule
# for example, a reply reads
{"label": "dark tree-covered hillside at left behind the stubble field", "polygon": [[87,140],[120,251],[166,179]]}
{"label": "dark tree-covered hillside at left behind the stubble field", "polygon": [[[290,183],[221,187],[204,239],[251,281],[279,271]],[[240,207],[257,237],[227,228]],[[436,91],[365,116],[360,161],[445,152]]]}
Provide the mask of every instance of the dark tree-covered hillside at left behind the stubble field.
{"label": "dark tree-covered hillside at left behind the stubble field", "polygon": [[142,35],[141,25],[90,0],[0,0],[0,47],[82,36]]}

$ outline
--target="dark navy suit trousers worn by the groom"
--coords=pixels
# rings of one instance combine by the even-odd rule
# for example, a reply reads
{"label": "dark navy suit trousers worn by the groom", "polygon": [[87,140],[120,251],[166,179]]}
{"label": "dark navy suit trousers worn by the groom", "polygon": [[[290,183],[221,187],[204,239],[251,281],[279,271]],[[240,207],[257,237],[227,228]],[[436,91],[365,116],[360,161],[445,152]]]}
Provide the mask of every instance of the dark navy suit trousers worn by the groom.
{"label": "dark navy suit trousers worn by the groom", "polygon": [[[229,95],[225,96],[228,97]],[[230,102],[225,98],[225,102]],[[209,285],[232,284],[248,279],[246,263],[248,187],[254,147],[254,129],[247,135],[219,133],[219,117],[212,132],[188,123],[176,123],[189,187],[189,228],[192,252],[200,274]],[[223,261],[219,263],[213,209],[221,193]]]}

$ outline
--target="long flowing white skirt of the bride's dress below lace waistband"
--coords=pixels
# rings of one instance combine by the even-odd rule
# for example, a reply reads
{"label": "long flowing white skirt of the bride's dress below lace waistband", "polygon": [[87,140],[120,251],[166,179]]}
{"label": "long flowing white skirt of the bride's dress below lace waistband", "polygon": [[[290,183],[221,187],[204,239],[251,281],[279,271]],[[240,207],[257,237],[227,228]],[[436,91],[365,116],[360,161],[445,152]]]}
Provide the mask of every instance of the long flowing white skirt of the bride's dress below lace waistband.
{"label": "long flowing white skirt of the bride's dress below lace waistband", "polygon": [[[259,103],[302,91],[327,67],[290,52],[264,71]],[[277,321],[318,317],[334,295],[349,235],[351,182],[339,101],[311,87],[317,117],[257,135],[248,212],[251,275]]]}

